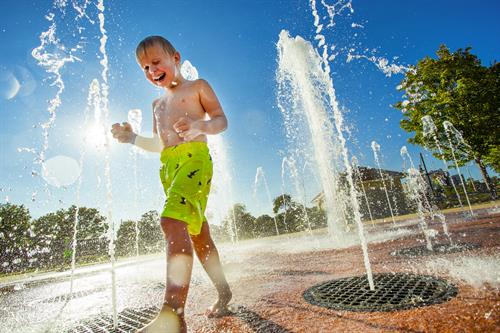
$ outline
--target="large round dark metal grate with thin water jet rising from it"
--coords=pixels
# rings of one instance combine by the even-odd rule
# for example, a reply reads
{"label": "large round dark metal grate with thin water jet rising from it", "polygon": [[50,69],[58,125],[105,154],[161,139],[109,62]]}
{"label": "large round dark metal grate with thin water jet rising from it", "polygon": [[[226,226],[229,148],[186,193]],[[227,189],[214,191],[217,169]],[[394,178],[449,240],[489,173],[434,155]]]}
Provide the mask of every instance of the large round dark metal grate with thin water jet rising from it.
{"label": "large round dark metal grate with thin water jet rising from it", "polygon": [[371,291],[366,275],[332,280],[304,292],[311,304],[334,310],[394,311],[448,301],[457,288],[439,278],[407,273],[374,274]]}

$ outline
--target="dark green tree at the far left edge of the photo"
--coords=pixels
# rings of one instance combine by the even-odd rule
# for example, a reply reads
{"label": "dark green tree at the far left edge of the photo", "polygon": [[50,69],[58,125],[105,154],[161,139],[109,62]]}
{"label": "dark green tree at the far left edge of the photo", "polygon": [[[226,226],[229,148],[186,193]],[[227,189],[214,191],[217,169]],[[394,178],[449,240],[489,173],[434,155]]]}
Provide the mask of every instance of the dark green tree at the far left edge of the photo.
{"label": "dark green tree at the far left edge of the photo", "polygon": [[23,205],[0,204],[0,249],[2,272],[27,266],[30,252],[30,213]]}

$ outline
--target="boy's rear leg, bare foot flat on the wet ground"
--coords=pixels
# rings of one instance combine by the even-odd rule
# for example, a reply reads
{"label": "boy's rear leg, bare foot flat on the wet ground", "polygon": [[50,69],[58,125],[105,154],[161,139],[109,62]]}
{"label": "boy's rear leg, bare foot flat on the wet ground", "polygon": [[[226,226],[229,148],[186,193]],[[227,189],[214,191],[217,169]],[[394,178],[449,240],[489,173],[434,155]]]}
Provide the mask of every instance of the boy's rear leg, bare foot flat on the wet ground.
{"label": "boy's rear leg, bare foot flat on the wet ground", "polygon": [[196,256],[207,272],[219,294],[219,299],[212,305],[209,316],[222,315],[227,312],[227,304],[231,300],[232,293],[224,276],[219,252],[210,236],[208,223],[204,222],[199,235],[190,235]]}

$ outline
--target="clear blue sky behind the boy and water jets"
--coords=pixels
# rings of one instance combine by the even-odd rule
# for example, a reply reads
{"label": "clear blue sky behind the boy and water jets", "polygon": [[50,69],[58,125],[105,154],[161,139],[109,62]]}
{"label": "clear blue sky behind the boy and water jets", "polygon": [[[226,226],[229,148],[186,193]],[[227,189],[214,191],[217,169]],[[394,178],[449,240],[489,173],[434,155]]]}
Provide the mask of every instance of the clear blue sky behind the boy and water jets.
{"label": "clear blue sky behind the boy and water jets", "polygon": [[[76,202],[76,183],[66,188],[47,185],[40,176],[34,155],[18,148],[42,147],[40,124],[47,121],[48,101],[56,94],[53,79],[31,56],[40,45],[39,36],[50,25],[46,15],[54,13],[56,35],[81,61],[61,69],[65,90],[49,131],[46,157],[64,155],[75,160],[82,151],[82,128],[89,84],[99,78],[99,26],[92,1],[86,14],[93,21],[75,20],[71,1],[65,13],[50,1],[0,2],[0,200],[25,204],[39,216]],[[83,4],[84,1],[75,1]],[[333,3],[336,1],[326,1]],[[61,1],[59,2],[61,3]],[[266,198],[251,199],[257,167],[266,173],[271,196],[281,192],[281,159],[287,150],[282,116],[276,107],[276,43],[282,29],[292,36],[313,41],[315,28],[308,1],[104,1],[107,54],[109,57],[110,122],[125,121],[133,108],[143,111],[143,130],[151,130],[151,101],[161,93],[143,78],[134,50],[145,36],[162,35],[188,59],[215,89],[229,118],[224,133],[233,166],[234,202],[243,202],[255,213],[265,211]],[[380,143],[383,167],[402,168],[399,149],[408,134],[399,128],[401,114],[390,107],[400,98],[395,87],[402,75],[390,78],[372,63],[359,59],[346,62],[353,53],[385,57],[401,65],[415,64],[434,56],[438,46],[450,49],[472,47],[483,64],[500,54],[498,1],[352,1],[354,12],[343,11],[337,24],[323,30],[339,55],[331,62],[332,78],[344,118],[350,129],[348,149],[361,165],[374,166],[370,143]],[[322,19],[326,11],[318,1]],[[362,27],[353,27],[352,23]],[[77,28],[80,27],[80,32]],[[83,39],[82,39],[83,38]],[[20,82],[15,96],[12,77]],[[89,149],[84,161],[80,203],[103,209],[106,200],[103,151]],[[418,147],[409,146],[417,159]],[[428,156],[428,155],[427,155]],[[136,218],[161,203],[157,179],[158,161],[140,155],[135,186],[130,146],[113,143],[110,149],[113,216]],[[430,168],[441,167],[428,158]],[[475,167],[471,172],[478,177]],[[310,195],[319,188],[311,185]],[[260,192],[264,192],[263,190]],[[36,193],[33,196],[33,193]],[[134,201],[138,195],[137,203]],[[32,200],[34,198],[34,201]],[[260,202],[260,203],[259,203]],[[268,204],[267,204],[268,205]],[[264,206],[264,208],[262,207]],[[270,205],[267,206],[268,208]]]}

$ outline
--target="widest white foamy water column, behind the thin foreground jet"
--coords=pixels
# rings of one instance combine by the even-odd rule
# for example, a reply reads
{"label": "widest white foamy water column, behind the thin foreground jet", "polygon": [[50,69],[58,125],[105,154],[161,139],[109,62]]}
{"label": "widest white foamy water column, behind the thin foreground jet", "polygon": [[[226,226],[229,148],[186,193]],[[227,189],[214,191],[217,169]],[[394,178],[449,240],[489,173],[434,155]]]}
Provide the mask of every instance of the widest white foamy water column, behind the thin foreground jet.
{"label": "widest white foamy water column, behind the thin foreground jet", "polygon": [[[284,118],[286,137],[292,157],[296,161],[310,158],[310,165],[318,168],[323,187],[328,226],[331,234],[342,233],[345,222],[337,212],[344,212],[343,190],[338,187],[338,150],[332,142],[334,129],[327,106],[317,98],[312,82],[320,82],[321,63],[313,48],[301,37],[292,39],[282,31],[278,42],[278,107]],[[310,56],[313,55],[313,56]],[[326,89],[323,87],[323,89]],[[314,111],[313,111],[314,110]],[[306,124],[309,128],[306,128]],[[309,135],[312,144],[308,144]],[[309,147],[313,147],[310,152]],[[314,161],[314,162],[313,162]]]}

